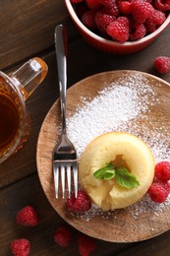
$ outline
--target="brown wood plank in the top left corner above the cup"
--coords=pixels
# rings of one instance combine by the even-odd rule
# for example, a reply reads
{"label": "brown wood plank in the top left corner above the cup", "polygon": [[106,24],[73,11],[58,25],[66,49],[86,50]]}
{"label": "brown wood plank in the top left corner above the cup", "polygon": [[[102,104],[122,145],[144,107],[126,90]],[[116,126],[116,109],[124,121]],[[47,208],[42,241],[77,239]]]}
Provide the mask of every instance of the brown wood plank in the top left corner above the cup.
{"label": "brown wood plank in the top left corner above the cup", "polygon": [[60,23],[72,26],[64,0],[1,1],[0,69],[53,46]]}

